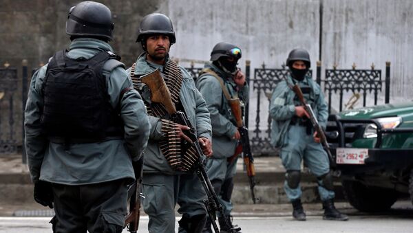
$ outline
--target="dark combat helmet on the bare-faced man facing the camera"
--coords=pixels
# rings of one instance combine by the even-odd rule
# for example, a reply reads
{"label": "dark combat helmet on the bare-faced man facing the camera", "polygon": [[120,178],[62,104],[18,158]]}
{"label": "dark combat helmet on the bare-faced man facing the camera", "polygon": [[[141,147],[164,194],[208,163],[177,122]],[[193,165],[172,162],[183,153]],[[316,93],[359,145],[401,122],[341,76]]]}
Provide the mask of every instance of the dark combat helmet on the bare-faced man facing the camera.
{"label": "dark combat helmet on the bare-faced man facing the camera", "polygon": [[145,39],[151,34],[169,36],[171,45],[176,41],[172,21],[165,14],[153,13],[143,17],[138,29],[138,38],[136,38],[136,42],[140,41],[145,47]]}

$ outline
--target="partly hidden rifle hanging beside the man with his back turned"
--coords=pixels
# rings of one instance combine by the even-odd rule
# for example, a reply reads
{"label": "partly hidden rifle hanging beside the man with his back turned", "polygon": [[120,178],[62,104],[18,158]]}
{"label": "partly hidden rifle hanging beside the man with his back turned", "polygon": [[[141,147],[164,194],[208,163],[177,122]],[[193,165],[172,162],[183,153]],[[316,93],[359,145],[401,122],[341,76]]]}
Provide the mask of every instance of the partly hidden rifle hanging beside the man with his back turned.
{"label": "partly hidden rifle hanging beside the man with his back turned", "polygon": [[140,198],[145,198],[142,195],[142,175],[143,175],[143,155],[138,162],[134,162],[134,172],[136,182],[129,186],[127,196],[129,201],[129,213],[125,219],[125,226],[131,233],[138,232],[139,217],[140,217]]}

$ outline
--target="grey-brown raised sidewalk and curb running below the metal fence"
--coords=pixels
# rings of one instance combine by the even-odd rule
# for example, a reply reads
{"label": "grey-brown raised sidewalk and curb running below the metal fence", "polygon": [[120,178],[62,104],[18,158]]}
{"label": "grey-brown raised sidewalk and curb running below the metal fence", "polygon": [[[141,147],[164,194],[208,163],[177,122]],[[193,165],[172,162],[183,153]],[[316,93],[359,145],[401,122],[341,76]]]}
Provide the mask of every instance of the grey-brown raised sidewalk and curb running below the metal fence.
{"label": "grey-brown raised sidewalk and curb running below the metal fence", "polygon": [[[256,157],[255,161],[255,197],[257,204],[251,200],[251,190],[248,177],[243,170],[243,161],[238,159],[235,187],[233,191],[234,215],[236,216],[288,216],[291,213],[290,203],[286,198],[284,188],[285,170],[279,157]],[[316,179],[313,175],[303,173],[301,187],[302,201],[309,211],[322,212],[317,194]],[[350,205],[343,201],[341,184],[335,182],[337,208],[351,210]],[[28,166],[22,164],[21,155],[0,156],[0,216],[12,216],[21,212],[41,216],[49,214],[49,208],[43,208],[33,201],[33,185],[30,181]],[[340,203],[341,201],[341,203]]]}

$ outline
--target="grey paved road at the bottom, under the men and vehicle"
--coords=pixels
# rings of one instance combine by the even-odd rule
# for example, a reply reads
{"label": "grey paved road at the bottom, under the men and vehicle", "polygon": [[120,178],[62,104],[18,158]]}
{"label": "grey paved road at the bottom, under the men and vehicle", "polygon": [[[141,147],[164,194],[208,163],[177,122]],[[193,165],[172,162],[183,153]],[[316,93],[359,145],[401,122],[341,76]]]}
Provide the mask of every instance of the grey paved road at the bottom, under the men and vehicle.
{"label": "grey paved road at the bottom, under the men and vehicle", "polygon": [[[242,227],[244,233],[271,232],[412,232],[413,206],[410,200],[397,201],[392,209],[377,214],[366,214],[350,208],[346,203],[337,203],[339,209],[349,214],[350,221],[324,221],[319,203],[304,204],[307,221],[293,221],[290,205],[238,206],[234,223]],[[242,207],[242,208],[241,208]],[[260,211],[260,208],[265,210]],[[46,208],[47,210],[47,208]],[[249,210],[249,211],[248,211]],[[142,213],[143,214],[143,213]],[[10,216],[10,215],[9,215]],[[47,216],[47,215],[43,215]],[[255,217],[251,217],[255,216]],[[0,233],[45,233],[52,232],[48,223],[52,217],[0,217]],[[177,221],[180,217],[177,217]],[[139,233],[147,233],[148,217],[140,217]],[[176,226],[178,232],[178,225]],[[124,230],[123,233],[126,233]]]}

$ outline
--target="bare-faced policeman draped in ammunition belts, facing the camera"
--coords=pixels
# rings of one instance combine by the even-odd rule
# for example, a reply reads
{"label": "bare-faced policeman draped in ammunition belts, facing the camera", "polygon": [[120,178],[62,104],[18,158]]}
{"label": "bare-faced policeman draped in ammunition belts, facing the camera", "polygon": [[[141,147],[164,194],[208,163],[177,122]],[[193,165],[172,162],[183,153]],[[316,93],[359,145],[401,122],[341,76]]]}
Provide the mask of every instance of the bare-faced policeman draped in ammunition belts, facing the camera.
{"label": "bare-faced policeman draped in ammunition belts, facing the camera", "polygon": [[151,122],[142,181],[145,195],[142,203],[149,215],[149,232],[175,231],[176,203],[180,206],[178,212],[182,214],[180,232],[200,232],[207,219],[207,210],[202,202],[206,198],[205,191],[193,172],[183,172],[176,166],[179,159],[171,159],[191,153],[191,148],[182,147],[187,139],[184,131],[189,127],[176,124],[162,104],[151,102],[151,90],[140,81],[140,77],[156,69],[161,72],[176,109],[186,113],[204,154],[211,155],[211,120],[207,104],[188,71],[169,58],[169,49],[176,42],[169,17],[157,13],[145,16],[136,42],[141,43],[145,52],[138,56],[129,72],[136,89],[142,94]]}

